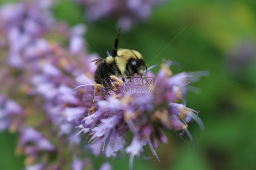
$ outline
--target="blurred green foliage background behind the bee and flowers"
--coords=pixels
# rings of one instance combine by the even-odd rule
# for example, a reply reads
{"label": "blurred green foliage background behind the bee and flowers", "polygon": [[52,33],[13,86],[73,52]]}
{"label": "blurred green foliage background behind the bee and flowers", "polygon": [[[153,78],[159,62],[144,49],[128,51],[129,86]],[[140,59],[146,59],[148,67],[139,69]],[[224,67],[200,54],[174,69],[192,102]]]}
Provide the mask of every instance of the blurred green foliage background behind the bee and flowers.
{"label": "blurred green foliage background behind the bee and flowers", "polygon": [[[54,12],[71,26],[85,23],[85,40],[102,57],[112,49],[115,20],[89,23],[82,7],[70,0],[61,0]],[[194,148],[166,132],[168,144],[156,150],[161,162],[148,147],[145,155],[152,160],[135,159],[134,170],[256,170],[256,55],[246,57],[247,50],[239,46],[251,44],[256,49],[255,42],[255,0],[170,0],[154,10],[148,22],[121,34],[119,47],[140,51],[149,66],[170,59],[181,67],[172,66],[174,72],[210,71],[209,77],[193,84],[201,93],[188,94],[187,106],[200,110],[206,128],[202,132],[195,122],[189,124]],[[187,136],[184,139],[189,143]],[[24,158],[15,156],[16,141],[15,134],[0,134],[0,170],[23,168]],[[95,167],[104,160],[94,158]],[[128,157],[109,161],[113,170],[128,170]]]}

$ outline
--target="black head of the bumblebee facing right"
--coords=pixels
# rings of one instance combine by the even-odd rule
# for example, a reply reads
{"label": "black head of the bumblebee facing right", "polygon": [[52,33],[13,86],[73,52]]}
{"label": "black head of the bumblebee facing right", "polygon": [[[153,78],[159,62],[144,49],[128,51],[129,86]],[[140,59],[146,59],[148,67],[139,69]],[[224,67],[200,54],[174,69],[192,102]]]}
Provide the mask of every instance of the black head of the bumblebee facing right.
{"label": "black head of the bumblebee facing right", "polygon": [[126,65],[126,75],[134,76],[135,74],[142,76],[145,70],[146,64],[142,59],[130,59]]}

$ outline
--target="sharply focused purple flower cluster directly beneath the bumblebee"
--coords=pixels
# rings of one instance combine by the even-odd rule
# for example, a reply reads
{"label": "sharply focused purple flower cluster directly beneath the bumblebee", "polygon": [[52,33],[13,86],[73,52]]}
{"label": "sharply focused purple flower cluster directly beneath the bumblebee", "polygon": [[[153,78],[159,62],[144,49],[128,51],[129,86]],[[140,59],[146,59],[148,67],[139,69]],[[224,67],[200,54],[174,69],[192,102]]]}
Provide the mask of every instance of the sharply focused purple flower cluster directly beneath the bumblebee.
{"label": "sharply focused purple flower cluster directly beneath the bumblebee", "polygon": [[[159,142],[167,143],[163,130],[186,132],[193,145],[187,123],[193,119],[202,130],[204,125],[197,116],[197,111],[179,104],[179,101],[185,100],[188,85],[199,80],[206,72],[172,75],[170,64],[170,61],[163,64],[157,75],[151,72],[146,74],[146,78],[147,76],[154,78],[153,86],[130,86],[120,79],[118,90],[108,93],[100,85],[94,85],[95,94],[92,97],[96,105],[91,107],[82,124],[77,127],[81,128],[80,133],[88,134],[87,142],[91,145],[87,147],[94,155],[103,152],[106,157],[111,157],[125,151],[130,155],[130,169],[132,169],[134,156],[142,155],[143,146],[149,145],[159,160],[155,148],[158,148]],[[133,83],[135,78],[133,77],[129,83]],[[141,92],[124,91],[127,87],[139,89]],[[152,91],[150,89],[153,90],[152,93],[148,93]],[[128,131],[133,134],[131,141],[124,138]]]}

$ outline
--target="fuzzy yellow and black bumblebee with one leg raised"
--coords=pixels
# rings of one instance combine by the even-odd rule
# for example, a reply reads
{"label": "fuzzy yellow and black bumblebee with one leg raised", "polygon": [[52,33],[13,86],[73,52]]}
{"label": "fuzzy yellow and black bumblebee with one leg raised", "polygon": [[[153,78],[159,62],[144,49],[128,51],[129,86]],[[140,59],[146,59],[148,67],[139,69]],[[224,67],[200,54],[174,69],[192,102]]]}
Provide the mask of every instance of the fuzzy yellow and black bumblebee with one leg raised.
{"label": "fuzzy yellow and black bumblebee with one leg raised", "polygon": [[118,49],[118,41],[121,28],[118,30],[118,36],[114,41],[114,49],[112,53],[107,58],[96,59],[91,62],[96,61],[97,69],[95,71],[95,82],[104,86],[108,86],[108,81],[106,78],[110,75],[115,75],[117,77],[130,76],[142,76],[144,70],[148,70],[142,55],[136,50],[130,49]]}

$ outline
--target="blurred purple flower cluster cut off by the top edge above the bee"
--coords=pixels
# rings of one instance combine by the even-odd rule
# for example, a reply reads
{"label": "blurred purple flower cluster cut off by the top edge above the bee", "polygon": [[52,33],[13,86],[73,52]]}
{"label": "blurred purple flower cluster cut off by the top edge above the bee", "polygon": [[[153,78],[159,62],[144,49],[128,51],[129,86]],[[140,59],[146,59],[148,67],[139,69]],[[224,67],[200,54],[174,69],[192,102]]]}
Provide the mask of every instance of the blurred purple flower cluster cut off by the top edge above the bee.
{"label": "blurred purple flower cluster cut off by the top edge above the bee", "polygon": [[124,31],[132,28],[133,24],[145,21],[152,10],[166,0],[74,0],[85,6],[88,20],[97,21],[102,18],[117,19],[117,27]]}

